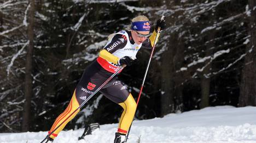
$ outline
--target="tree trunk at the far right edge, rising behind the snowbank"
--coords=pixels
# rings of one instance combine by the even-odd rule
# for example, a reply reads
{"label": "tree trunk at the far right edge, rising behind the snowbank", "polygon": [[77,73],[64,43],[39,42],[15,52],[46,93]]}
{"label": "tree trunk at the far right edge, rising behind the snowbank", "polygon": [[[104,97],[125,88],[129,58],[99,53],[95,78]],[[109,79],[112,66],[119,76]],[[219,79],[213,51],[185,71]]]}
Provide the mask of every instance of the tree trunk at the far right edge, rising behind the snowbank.
{"label": "tree trunk at the far right edge, rising behind the snowbank", "polygon": [[242,71],[239,106],[256,105],[256,1],[248,0],[249,16],[248,34],[250,42],[246,47],[245,64]]}

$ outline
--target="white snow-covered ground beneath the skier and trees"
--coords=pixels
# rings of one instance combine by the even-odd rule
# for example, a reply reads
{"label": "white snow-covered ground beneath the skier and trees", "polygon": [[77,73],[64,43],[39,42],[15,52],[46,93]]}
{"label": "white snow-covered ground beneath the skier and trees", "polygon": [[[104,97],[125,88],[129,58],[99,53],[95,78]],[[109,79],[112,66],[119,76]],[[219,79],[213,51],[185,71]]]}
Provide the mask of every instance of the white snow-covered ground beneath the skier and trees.
{"label": "white snow-covered ground beneath the skier and trees", "polygon": [[[83,129],[62,131],[55,143],[113,142],[117,124],[101,125],[92,135],[78,141]],[[40,142],[47,132],[1,133],[0,142]],[[256,143],[256,107],[209,107],[163,118],[134,121],[128,142]]]}

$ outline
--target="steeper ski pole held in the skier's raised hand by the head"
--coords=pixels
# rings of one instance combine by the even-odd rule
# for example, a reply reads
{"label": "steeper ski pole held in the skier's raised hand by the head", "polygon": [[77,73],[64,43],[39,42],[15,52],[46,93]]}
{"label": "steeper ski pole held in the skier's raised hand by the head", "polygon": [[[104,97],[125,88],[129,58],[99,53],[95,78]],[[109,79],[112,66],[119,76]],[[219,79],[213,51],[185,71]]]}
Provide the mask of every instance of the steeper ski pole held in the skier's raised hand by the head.
{"label": "steeper ski pole held in the skier's raised hand by the head", "polygon": [[[161,17],[161,21],[164,20],[164,18],[165,18],[165,16],[163,15],[163,16]],[[146,72],[145,72],[145,74],[144,74],[143,82],[142,82],[142,84],[141,84],[141,90],[139,90],[139,95],[138,95],[138,99],[137,99],[137,106],[138,106],[139,98],[141,98],[142,89],[143,89],[144,82],[145,82],[146,77],[147,77],[149,65],[150,65],[151,59],[152,59],[152,57],[153,57],[154,49],[155,49],[156,39],[158,39],[158,35],[159,35],[159,33],[160,33],[160,30],[161,30],[161,27],[158,27],[158,33],[156,34],[156,38],[155,38],[155,40],[154,40],[152,52],[151,52],[151,55],[150,55],[150,58],[149,58],[149,61],[148,61],[148,66],[147,66]],[[137,109],[137,107],[136,107],[136,109]],[[133,121],[132,121],[132,122],[133,122]],[[132,126],[132,123],[131,123],[131,126]],[[131,130],[131,126],[130,126],[130,128],[129,128],[129,130],[128,130],[127,135],[125,136],[125,140],[124,140],[122,143],[127,142],[128,136],[129,136],[129,133],[130,133],[130,130]]]}

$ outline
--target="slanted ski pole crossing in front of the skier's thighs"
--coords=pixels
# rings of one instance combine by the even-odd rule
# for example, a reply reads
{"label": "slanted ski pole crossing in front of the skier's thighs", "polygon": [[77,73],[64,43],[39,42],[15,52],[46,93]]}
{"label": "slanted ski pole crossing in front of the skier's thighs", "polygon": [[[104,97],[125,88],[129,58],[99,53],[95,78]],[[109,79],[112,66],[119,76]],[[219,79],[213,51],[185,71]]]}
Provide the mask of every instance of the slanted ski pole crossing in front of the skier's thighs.
{"label": "slanted ski pole crossing in front of the skier's thighs", "polygon": [[115,73],[113,73],[112,76],[110,76],[100,87],[98,87],[97,90],[95,90],[82,104],[79,105],[79,107],[78,107],[77,109],[75,109],[64,121],[62,121],[62,122],[60,123],[59,126],[57,126],[57,127],[53,130],[53,132],[50,132],[50,134],[48,134],[40,143],[43,143],[46,139],[48,139],[51,134],[53,134],[65,121],[67,121],[67,119],[69,119],[69,117],[71,117],[71,116],[75,113],[75,111],[77,111],[78,109],[82,108],[83,105],[84,105],[87,101],[89,101],[92,96],[94,96],[99,90],[101,90],[101,89],[103,88],[103,86],[106,85],[106,84],[109,82],[109,80],[111,80],[115,75],[117,75],[117,74],[119,73],[119,71],[123,70],[125,66],[126,66],[126,65],[122,65]]}

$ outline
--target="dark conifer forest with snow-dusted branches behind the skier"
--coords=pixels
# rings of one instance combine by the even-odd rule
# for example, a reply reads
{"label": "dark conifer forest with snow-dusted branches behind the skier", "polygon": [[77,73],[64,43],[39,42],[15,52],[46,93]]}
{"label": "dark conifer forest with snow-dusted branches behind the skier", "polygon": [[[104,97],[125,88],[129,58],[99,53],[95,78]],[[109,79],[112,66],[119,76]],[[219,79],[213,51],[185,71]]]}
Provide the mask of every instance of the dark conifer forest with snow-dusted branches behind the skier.
{"label": "dark conifer forest with snow-dusted branches behind the skier", "polygon": [[[49,130],[107,36],[137,15],[152,24],[165,15],[167,28],[136,120],[256,105],[255,0],[1,0],[0,132]],[[150,52],[141,49],[136,63],[119,75],[135,100]],[[121,111],[98,94],[65,129],[117,123]]]}

